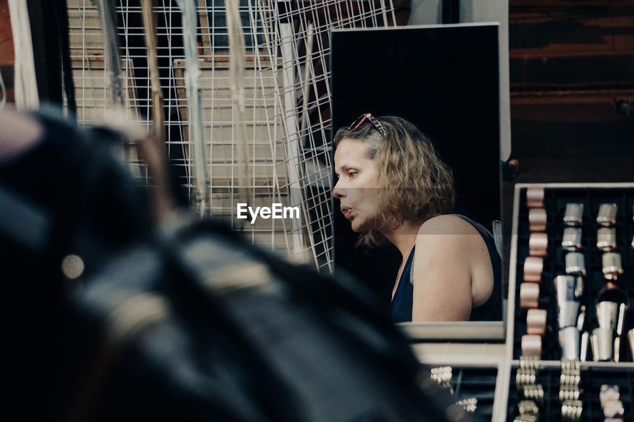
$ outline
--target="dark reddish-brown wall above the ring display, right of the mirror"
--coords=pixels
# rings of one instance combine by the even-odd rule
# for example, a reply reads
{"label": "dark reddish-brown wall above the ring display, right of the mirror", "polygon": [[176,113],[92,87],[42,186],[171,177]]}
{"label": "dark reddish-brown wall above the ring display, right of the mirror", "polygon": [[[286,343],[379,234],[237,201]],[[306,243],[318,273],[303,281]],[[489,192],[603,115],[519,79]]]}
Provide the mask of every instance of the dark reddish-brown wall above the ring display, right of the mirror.
{"label": "dark reddish-brown wall above the ring display, right of the mirror", "polygon": [[634,182],[634,0],[510,0],[508,44],[505,279],[515,183]]}

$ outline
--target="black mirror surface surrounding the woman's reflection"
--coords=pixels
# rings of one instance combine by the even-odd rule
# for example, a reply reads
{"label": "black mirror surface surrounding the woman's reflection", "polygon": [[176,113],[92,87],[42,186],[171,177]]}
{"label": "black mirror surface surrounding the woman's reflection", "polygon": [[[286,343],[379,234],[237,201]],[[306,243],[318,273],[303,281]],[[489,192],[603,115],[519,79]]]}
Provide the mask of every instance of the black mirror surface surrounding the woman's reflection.
{"label": "black mirror surface surrounding the woman's reflection", "polygon": [[[432,139],[455,177],[454,212],[491,229],[500,219],[498,27],[340,30],[332,33],[333,134],[362,113],[397,115]],[[335,267],[389,303],[401,255],[354,247],[335,201]]]}

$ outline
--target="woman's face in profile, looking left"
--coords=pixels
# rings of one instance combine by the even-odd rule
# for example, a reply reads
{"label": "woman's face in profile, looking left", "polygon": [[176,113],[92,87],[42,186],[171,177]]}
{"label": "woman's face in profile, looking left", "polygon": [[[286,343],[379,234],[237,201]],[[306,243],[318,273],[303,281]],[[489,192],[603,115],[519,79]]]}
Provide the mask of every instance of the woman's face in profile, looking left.
{"label": "woman's face in profile, looking left", "polygon": [[368,158],[364,141],[342,139],[335,151],[337,183],[332,195],[341,202],[341,212],[355,232],[378,229],[377,172]]}

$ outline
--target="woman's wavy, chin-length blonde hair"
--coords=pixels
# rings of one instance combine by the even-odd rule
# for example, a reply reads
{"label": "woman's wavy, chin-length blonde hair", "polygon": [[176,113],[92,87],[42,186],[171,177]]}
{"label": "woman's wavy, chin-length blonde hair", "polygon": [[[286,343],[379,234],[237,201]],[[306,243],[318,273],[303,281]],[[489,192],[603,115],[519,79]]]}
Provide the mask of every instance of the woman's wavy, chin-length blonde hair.
{"label": "woman's wavy, chin-length blonde hair", "polygon": [[[414,219],[448,214],[455,203],[451,169],[437,155],[434,145],[418,128],[395,116],[377,117],[385,137],[369,120],[356,131],[340,128],[335,148],[343,139],[364,141],[367,157],[377,169],[378,220],[398,227]],[[385,237],[372,229],[361,233],[357,245],[378,245]]]}

